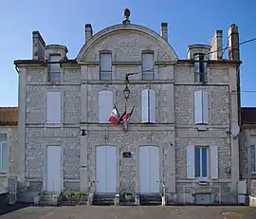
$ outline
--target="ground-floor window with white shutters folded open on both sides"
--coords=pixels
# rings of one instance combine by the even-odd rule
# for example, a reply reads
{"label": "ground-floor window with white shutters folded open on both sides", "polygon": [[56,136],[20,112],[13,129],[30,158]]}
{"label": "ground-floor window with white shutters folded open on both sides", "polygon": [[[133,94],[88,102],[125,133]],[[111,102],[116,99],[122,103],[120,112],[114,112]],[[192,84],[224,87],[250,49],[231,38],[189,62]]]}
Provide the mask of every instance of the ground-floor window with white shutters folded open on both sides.
{"label": "ground-floor window with white shutters folded open on both sides", "polygon": [[218,179],[218,146],[187,147],[187,178],[199,180]]}

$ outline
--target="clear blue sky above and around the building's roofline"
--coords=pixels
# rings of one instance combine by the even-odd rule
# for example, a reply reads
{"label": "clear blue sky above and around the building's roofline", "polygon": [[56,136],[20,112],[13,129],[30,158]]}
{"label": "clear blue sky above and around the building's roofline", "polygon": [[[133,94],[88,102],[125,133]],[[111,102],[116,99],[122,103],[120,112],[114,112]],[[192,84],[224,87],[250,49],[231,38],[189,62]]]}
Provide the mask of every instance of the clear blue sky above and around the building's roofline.
{"label": "clear blue sky above and around the building's roofline", "polygon": [[[31,32],[39,30],[46,44],[68,47],[76,58],[84,44],[84,25],[94,32],[122,22],[122,11],[131,10],[131,22],[159,32],[169,25],[169,42],[179,59],[187,58],[187,46],[210,44],[215,29],[223,29],[224,46],[232,23],[239,27],[240,42],[256,37],[255,0],[9,0],[0,7],[0,106],[18,104],[18,74],[13,61],[31,59]],[[256,41],[241,46],[242,105],[256,106]],[[255,92],[247,92],[255,91]]]}

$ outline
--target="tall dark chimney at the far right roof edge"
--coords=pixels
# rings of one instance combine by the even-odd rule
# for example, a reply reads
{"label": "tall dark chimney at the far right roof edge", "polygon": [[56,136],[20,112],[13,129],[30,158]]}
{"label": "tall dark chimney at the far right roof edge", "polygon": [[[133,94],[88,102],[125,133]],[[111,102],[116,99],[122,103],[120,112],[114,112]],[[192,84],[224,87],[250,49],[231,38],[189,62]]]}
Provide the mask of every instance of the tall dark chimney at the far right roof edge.
{"label": "tall dark chimney at the far right roof edge", "polygon": [[229,60],[240,61],[239,32],[235,24],[229,27]]}

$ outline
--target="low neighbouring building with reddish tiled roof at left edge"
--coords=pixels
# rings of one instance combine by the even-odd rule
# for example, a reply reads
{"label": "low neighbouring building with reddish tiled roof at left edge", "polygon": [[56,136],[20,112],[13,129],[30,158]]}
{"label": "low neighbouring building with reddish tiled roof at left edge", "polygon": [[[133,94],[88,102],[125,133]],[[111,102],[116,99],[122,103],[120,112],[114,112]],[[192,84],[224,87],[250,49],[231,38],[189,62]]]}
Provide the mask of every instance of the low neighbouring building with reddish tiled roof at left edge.
{"label": "low neighbouring building with reddish tiled roof at left edge", "polygon": [[0,107],[0,193],[15,200],[18,178],[18,108]]}

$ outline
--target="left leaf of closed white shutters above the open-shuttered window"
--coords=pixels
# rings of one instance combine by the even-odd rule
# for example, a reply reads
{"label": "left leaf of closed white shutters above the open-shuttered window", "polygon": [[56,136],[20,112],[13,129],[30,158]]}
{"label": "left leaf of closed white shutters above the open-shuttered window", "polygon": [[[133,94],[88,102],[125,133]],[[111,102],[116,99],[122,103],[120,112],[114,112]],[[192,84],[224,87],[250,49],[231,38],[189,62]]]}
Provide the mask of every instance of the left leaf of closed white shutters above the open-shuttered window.
{"label": "left leaf of closed white shutters above the open-shuttered window", "polygon": [[194,111],[194,123],[200,124],[203,122],[203,99],[202,90],[195,90],[193,92],[193,111]]}

